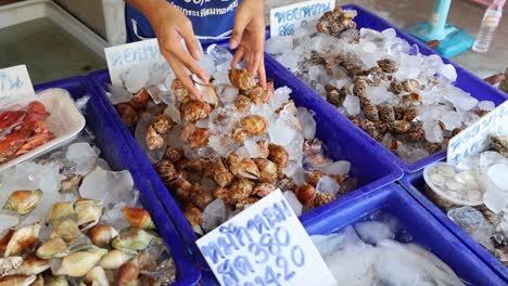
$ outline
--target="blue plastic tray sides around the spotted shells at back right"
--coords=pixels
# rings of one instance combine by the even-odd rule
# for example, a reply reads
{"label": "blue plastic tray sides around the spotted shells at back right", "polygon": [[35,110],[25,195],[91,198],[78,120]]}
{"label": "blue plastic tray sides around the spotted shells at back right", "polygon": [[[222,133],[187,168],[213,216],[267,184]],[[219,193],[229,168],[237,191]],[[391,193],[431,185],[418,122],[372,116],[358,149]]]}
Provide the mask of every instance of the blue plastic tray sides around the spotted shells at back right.
{"label": "blue plastic tray sides around the spotted shells at back right", "polygon": [[[397,31],[397,37],[401,37],[407,40],[410,44],[417,44],[420,50],[420,53],[424,55],[430,55],[430,54],[440,55],[434,50],[428,48],[424,43],[420,42],[412,36],[405,34],[404,31],[393,26],[389,22],[384,21],[383,18],[377,16],[376,14],[371,13],[370,11],[359,5],[346,4],[346,5],[343,5],[343,8],[347,10],[354,9],[358,12],[358,15],[355,18],[356,23],[358,24],[358,28],[371,28],[374,30],[384,30],[388,28],[394,28]],[[306,83],[303,82],[300,78],[297,78],[294,74],[289,72],[287,68],[284,68],[281,64],[279,64],[277,60],[275,60],[272,56],[270,55],[265,55],[265,56],[266,56],[266,61],[268,63],[271,63],[271,65],[274,66],[274,69],[276,69],[277,73],[280,74],[281,77],[285,78],[289,82],[292,82],[292,88],[299,88],[299,89],[305,90],[308,96],[313,96],[313,98],[319,96],[319,94],[317,94],[312,88],[308,88],[308,89],[304,88],[303,86],[306,86]],[[465,90],[466,92],[471,93],[478,100],[493,101],[496,105],[499,105],[508,99],[507,94],[487,84],[485,81],[478,78],[473,74],[469,73],[465,68],[460,67],[459,65],[453,63],[452,61],[447,58],[444,58],[444,57],[442,58],[445,64],[452,64],[457,69],[458,78],[457,78],[456,86]],[[341,117],[341,118],[344,117],[336,109],[334,112],[334,116]],[[384,148],[379,142],[373,140],[371,136],[369,136],[366,132],[364,132],[358,127],[353,125],[351,128],[354,129],[356,132],[360,133],[364,140],[369,142],[369,144],[380,146],[381,153],[388,158],[390,158],[390,160],[398,165],[406,172],[416,172],[422,169],[423,167],[426,167],[427,165],[441,160],[446,157],[446,151],[441,151],[429,157],[422,158],[415,164],[407,164],[403,161],[401,158],[398,158],[395,154]]]}

